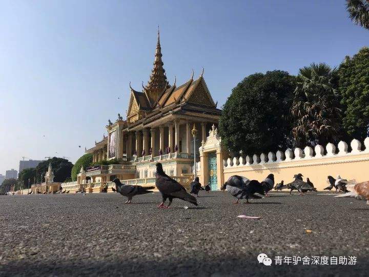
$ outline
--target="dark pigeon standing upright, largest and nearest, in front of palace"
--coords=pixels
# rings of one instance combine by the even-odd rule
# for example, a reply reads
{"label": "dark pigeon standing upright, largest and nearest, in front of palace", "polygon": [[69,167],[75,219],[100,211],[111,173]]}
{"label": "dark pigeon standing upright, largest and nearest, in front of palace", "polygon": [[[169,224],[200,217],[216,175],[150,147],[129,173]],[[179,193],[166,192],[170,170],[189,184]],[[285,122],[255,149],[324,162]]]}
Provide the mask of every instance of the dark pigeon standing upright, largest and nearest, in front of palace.
{"label": "dark pigeon standing upright, largest and nearest, in front of palace", "polygon": [[[158,208],[168,208],[172,204],[174,198],[179,198],[197,206],[196,197],[187,193],[186,189],[181,184],[169,177],[163,171],[160,163],[156,163],[155,186],[162,195],[162,202]],[[165,206],[164,203],[167,201],[167,198],[169,198],[169,204]]]}

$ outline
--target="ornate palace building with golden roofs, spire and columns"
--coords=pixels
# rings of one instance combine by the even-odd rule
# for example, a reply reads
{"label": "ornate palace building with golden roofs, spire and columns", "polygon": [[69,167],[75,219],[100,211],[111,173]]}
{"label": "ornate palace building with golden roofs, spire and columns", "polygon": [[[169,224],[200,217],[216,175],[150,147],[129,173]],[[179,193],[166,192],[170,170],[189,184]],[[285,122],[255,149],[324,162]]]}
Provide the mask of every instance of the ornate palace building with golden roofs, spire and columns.
{"label": "ornate palace building with golden roofs, spire and columns", "polygon": [[[92,166],[83,172],[90,182],[104,183],[118,177],[121,180],[145,179],[155,176],[155,163],[160,161],[168,175],[190,174],[194,165],[194,137],[198,130],[196,152],[204,144],[213,125],[218,124],[217,109],[208,86],[201,75],[194,74],[181,85],[170,85],[163,68],[158,31],[155,60],[146,86],[137,91],[130,85],[127,117],[120,114],[115,122],[108,121],[108,135],[86,150],[93,162],[112,160],[112,165]],[[199,155],[197,154],[197,157]]]}

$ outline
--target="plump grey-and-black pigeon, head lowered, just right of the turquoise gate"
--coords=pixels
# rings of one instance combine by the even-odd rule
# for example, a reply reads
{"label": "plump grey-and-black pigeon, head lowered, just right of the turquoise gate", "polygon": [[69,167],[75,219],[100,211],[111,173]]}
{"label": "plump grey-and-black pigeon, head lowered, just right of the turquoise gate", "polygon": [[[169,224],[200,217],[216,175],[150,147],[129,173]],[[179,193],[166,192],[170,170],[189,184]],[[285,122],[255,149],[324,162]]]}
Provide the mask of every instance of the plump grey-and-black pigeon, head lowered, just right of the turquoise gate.
{"label": "plump grey-and-black pigeon, head lowered, just right of the turquoise gate", "polygon": [[237,201],[234,204],[238,204],[240,199],[246,199],[247,203],[249,203],[249,198],[262,198],[255,193],[262,195],[265,194],[263,186],[261,186],[257,180],[250,181],[246,177],[239,175],[233,175],[229,177],[228,181],[224,185],[226,186],[226,191],[237,198]]}

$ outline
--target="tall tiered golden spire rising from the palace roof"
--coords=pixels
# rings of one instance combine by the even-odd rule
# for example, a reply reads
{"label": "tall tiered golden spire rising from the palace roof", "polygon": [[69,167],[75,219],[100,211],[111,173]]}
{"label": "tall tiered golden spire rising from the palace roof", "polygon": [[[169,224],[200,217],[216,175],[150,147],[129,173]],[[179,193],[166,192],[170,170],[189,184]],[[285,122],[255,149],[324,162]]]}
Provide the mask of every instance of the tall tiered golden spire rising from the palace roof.
{"label": "tall tiered golden spire rising from the palace roof", "polygon": [[158,26],[158,36],[155,50],[154,67],[151,70],[150,80],[145,87],[145,92],[150,100],[150,103],[154,103],[160,93],[169,88],[165,69],[163,68],[163,62],[161,60],[161,46],[160,46],[160,31]]}

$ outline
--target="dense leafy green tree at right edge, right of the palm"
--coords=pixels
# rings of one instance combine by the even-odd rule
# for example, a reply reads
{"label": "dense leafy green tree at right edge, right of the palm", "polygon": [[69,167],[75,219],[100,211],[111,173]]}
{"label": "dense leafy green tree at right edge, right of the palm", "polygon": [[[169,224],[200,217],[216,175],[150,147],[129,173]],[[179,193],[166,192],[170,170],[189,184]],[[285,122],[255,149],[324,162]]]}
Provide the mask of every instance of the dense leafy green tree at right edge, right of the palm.
{"label": "dense leafy green tree at right edge, right of the palm", "polygon": [[369,127],[369,48],[360,49],[352,58],[346,56],[338,72],[343,127],[351,137],[362,140]]}

